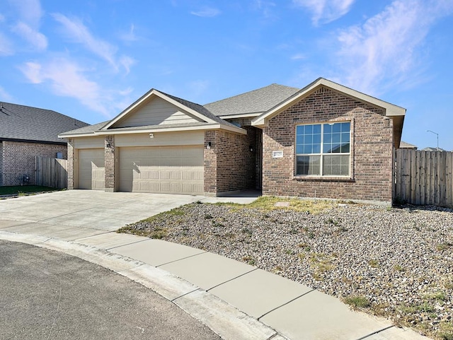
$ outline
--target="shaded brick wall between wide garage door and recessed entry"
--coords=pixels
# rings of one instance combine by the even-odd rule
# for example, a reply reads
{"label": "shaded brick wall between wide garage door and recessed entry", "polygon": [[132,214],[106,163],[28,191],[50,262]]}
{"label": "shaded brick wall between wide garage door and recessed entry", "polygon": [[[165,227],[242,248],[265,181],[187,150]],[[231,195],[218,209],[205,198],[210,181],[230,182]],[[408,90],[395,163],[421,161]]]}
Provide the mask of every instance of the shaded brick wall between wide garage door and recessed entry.
{"label": "shaded brick wall between wide garage door and recessed entry", "polygon": [[[219,194],[256,187],[257,129],[243,129],[247,130],[246,135],[205,132],[205,192]],[[207,149],[209,142],[211,148]]]}

